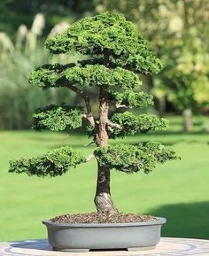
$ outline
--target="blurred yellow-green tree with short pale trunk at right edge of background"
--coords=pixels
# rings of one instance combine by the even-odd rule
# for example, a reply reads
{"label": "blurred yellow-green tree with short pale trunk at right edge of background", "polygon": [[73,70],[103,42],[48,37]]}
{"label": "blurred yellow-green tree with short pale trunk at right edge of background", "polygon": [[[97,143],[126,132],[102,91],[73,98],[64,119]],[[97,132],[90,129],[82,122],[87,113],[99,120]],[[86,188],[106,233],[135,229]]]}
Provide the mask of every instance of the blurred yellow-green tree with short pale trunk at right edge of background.
{"label": "blurred yellow-green tree with short pale trunk at right edge of background", "polygon": [[174,7],[180,25],[166,42],[163,58],[167,66],[155,89],[164,91],[166,99],[182,112],[184,130],[191,131],[192,112],[208,107],[209,102],[209,3],[176,1]]}

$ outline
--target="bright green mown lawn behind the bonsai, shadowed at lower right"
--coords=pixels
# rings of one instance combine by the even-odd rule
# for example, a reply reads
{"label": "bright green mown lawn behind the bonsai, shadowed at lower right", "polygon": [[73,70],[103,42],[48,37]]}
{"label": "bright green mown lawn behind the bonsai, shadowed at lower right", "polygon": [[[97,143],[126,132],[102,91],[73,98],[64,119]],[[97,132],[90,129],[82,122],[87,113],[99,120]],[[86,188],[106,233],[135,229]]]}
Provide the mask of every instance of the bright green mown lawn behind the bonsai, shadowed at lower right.
{"label": "bright green mown lawn behind the bonsai, shadowed at lower right", "polygon": [[[182,157],[159,165],[150,175],[112,171],[112,198],[121,212],[151,213],[167,218],[166,237],[209,238],[209,136],[197,128],[185,135],[174,121],[174,133],[131,136],[123,142],[153,140],[169,144]],[[197,122],[199,126],[199,122]],[[0,132],[0,241],[46,237],[41,221],[62,213],[95,211],[95,161],[57,178],[8,174],[9,159],[33,156],[63,144],[88,155],[85,136],[50,132]]]}

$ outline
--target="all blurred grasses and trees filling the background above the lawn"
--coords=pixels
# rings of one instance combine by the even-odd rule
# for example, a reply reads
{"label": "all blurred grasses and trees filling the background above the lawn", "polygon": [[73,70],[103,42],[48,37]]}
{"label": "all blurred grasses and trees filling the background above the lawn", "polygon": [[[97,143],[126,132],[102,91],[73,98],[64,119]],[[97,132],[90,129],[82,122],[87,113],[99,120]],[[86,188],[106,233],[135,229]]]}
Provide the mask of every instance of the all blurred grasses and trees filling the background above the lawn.
{"label": "all blurred grasses and trees filling the background above the lawn", "polygon": [[193,112],[209,112],[207,0],[1,0],[0,11],[2,129],[29,128],[37,107],[78,103],[65,89],[43,92],[29,85],[28,73],[43,63],[72,61],[72,56],[54,57],[43,50],[44,39],[84,16],[105,11],[123,13],[134,21],[163,61],[158,77],[143,78],[145,89],[155,96],[154,112],[182,113],[186,131],[192,130]]}

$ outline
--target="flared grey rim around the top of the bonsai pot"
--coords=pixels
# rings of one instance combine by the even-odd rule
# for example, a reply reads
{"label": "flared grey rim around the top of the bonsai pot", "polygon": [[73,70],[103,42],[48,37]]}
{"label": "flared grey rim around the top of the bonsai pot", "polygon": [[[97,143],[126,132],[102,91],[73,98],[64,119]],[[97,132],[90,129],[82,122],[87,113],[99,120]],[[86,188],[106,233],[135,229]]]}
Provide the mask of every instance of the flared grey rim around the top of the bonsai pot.
{"label": "flared grey rim around the top of the bonsai pot", "polygon": [[49,220],[42,221],[44,225],[51,227],[66,227],[66,228],[117,228],[117,227],[135,227],[135,226],[152,226],[162,225],[166,223],[166,218],[157,217],[155,221],[142,222],[124,222],[124,223],[56,223]]}

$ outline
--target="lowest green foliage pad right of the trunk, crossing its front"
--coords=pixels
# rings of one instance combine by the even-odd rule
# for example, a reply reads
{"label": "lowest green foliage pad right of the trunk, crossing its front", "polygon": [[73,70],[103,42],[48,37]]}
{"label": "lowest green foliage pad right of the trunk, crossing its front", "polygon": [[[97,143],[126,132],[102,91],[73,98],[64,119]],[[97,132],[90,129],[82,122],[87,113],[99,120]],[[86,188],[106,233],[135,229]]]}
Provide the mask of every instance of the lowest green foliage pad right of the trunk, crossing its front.
{"label": "lowest green foliage pad right of the trunk, crossing its front", "polygon": [[177,159],[175,152],[169,147],[154,142],[108,145],[97,148],[94,154],[100,165],[128,174],[139,171],[148,174],[157,163]]}

